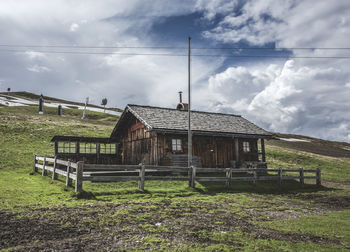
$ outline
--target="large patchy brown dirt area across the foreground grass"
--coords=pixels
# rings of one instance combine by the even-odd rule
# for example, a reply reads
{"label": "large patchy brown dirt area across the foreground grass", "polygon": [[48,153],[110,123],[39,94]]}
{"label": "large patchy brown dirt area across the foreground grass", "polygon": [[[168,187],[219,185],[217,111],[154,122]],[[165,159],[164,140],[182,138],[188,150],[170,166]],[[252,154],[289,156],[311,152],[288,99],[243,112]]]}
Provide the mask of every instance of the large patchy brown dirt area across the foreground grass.
{"label": "large patchy brown dirt area across the foreground grass", "polygon": [[[234,233],[259,239],[316,244],[338,241],[257,226],[258,211],[232,207],[234,200],[90,204],[79,208],[35,209],[0,213],[0,248],[19,251],[52,248],[67,251],[170,249],[221,243],[244,246],[239,240],[218,240],[213,234]],[[231,206],[231,207],[230,207]],[[278,218],[282,218],[278,216]],[[150,241],[150,237],[153,237]]]}

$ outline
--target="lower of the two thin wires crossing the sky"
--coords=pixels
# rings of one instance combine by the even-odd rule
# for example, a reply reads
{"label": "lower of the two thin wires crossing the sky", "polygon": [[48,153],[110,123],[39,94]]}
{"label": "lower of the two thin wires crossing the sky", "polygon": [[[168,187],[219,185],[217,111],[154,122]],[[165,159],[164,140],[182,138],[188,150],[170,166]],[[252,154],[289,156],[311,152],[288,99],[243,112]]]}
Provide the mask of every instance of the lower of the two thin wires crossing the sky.
{"label": "lower of the two thin wires crossing the sky", "polygon": [[[2,50],[0,52],[21,52],[26,53],[27,50]],[[80,55],[124,55],[124,56],[171,56],[171,57],[187,57],[187,54],[171,54],[171,53],[119,53],[119,52],[79,52],[79,51],[35,51],[38,53],[50,54],[80,54]],[[350,56],[293,56],[293,55],[229,55],[229,54],[191,54],[194,57],[223,57],[223,58],[293,58],[293,59],[350,59]]]}

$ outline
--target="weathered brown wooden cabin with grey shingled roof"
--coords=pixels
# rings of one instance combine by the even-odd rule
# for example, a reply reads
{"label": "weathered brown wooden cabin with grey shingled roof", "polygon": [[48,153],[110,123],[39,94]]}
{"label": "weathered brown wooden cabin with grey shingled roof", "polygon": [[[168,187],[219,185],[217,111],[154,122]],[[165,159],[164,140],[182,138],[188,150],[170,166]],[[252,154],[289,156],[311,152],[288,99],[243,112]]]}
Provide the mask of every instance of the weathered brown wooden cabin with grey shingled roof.
{"label": "weathered brown wooden cabin with grey shingled roof", "polygon": [[[127,105],[110,136],[120,163],[187,166],[187,108]],[[272,135],[242,116],[191,111],[191,132],[195,166],[266,167],[264,139]]]}

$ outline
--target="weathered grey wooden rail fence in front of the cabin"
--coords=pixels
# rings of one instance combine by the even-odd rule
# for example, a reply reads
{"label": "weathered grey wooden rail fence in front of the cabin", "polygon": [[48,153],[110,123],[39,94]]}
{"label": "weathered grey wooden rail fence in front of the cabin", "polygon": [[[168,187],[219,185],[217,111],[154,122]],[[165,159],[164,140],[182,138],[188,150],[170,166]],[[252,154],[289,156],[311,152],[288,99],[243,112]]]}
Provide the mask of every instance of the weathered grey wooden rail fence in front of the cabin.
{"label": "weathered grey wooden rail fence in front of the cabin", "polygon": [[[310,169],[266,169],[266,168],[199,168],[154,165],[100,165],[73,163],[52,157],[34,157],[34,172],[42,170],[42,176],[47,171],[52,172],[52,179],[60,174],[66,177],[66,186],[72,186],[75,180],[75,191],[82,192],[83,181],[112,182],[112,181],[138,181],[139,189],[144,190],[146,180],[179,180],[188,181],[189,186],[195,187],[195,182],[222,181],[229,187],[234,181],[277,181],[282,185],[283,180],[299,180],[304,186],[305,179],[315,179],[316,185],[321,185],[321,170]],[[275,173],[275,174],[271,174]],[[293,173],[297,173],[293,175]],[[312,173],[314,176],[305,176]]]}

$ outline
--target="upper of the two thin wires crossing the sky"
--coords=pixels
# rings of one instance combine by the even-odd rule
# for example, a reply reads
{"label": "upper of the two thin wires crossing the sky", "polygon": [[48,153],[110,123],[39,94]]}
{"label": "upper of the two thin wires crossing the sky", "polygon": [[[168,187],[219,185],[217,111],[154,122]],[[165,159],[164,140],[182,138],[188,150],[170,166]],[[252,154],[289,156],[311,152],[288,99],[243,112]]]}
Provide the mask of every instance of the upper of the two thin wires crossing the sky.
{"label": "upper of the two thin wires crossing the sky", "polygon": [[[79,49],[187,49],[176,46],[81,46],[81,45],[10,45],[13,48],[79,48]],[[350,47],[193,47],[194,50],[350,50]]]}

